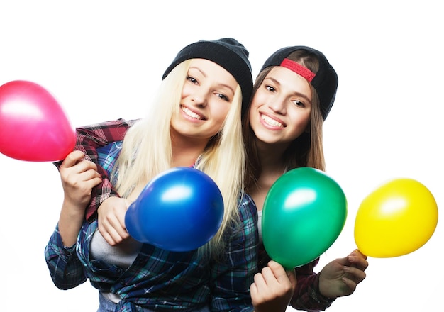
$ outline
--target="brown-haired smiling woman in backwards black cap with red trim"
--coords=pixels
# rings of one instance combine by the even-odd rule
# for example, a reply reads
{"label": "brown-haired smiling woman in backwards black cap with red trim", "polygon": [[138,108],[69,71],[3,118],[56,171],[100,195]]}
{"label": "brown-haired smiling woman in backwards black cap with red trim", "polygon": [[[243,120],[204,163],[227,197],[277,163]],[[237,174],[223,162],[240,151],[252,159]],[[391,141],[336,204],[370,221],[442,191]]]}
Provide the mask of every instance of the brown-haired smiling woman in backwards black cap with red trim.
{"label": "brown-haired smiling woman in backwards black cap with red trim", "polygon": [[[262,66],[243,120],[246,191],[257,206],[260,234],[265,197],[282,174],[297,167],[325,171],[322,126],[337,88],[335,69],[322,52],[310,47],[279,49]],[[298,310],[323,311],[337,297],[353,294],[365,279],[368,263],[356,250],[315,274],[318,260],[297,267],[295,279],[294,272],[286,274],[282,265],[270,261],[261,243],[262,271],[250,289],[256,311],[285,311],[289,303]]]}

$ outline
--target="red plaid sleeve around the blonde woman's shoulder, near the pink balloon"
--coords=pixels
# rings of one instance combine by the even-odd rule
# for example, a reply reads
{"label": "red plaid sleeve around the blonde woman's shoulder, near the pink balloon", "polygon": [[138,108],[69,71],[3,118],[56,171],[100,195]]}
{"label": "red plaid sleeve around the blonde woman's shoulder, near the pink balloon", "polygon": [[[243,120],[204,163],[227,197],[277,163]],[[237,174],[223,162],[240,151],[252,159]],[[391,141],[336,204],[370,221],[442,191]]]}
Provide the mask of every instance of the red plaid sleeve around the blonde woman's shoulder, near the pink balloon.
{"label": "red plaid sleeve around the blonde woman's shoulder, near the pink balloon", "polygon": [[[126,121],[120,118],[116,121],[106,121],[104,123],[95,123],[91,126],[79,127],[76,129],[77,141],[74,150],[81,150],[85,154],[85,160],[90,160],[98,165],[97,149],[109,143],[123,140],[126,131],[133,126],[135,121]],[[55,163],[57,167],[60,167],[60,164],[61,162]],[[92,189],[91,201],[86,213],[87,220],[91,220],[93,216],[96,216],[97,208],[105,199],[110,196],[118,196],[106,170],[98,165],[97,171],[101,175],[102,182]]]}

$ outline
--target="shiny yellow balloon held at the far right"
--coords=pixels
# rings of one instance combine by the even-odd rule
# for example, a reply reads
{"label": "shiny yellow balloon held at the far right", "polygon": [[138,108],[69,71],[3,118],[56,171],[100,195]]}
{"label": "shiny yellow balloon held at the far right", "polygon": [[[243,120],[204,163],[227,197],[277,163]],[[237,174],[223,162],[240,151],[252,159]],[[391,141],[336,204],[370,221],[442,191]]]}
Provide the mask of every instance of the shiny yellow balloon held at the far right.
{"label": "shiny yellow balloon held at the far right", "polygon": [[364,255],[398,257],[414,252],[433,235],[438,206],[414,179],[393,179],[370,193],[355,221],[355,242]]}

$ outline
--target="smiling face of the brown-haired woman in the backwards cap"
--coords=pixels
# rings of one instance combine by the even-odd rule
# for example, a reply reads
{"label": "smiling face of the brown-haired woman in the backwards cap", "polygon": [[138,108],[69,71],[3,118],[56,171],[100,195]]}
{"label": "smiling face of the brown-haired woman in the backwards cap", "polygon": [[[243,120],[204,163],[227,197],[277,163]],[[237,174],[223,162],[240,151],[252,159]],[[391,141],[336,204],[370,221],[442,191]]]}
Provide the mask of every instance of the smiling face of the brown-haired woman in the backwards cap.
{"label": "smiling face of the brown-haired woman in the backwards cap", "polygon": [[309,126],[309,82],[285,67],[274,67],[253,96],[250,125],[257,140],[289,144]]}

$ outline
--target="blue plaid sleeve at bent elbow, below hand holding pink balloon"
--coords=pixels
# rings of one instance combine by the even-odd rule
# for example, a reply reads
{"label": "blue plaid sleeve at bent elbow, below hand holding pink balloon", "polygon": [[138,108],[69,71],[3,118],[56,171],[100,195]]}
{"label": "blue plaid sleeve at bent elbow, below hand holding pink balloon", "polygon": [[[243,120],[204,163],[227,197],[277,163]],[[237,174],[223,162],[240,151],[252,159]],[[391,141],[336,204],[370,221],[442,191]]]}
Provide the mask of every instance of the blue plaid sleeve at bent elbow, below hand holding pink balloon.
{"label": "blue plaid sleeve at bent elbow, below hand holding pink balloon", "polygon": [[77,257],[76,245],[64,247],[58,225],[45,247],[45,260],[52,282],[59,289],[72,289],[86,282],[82,263]]}

